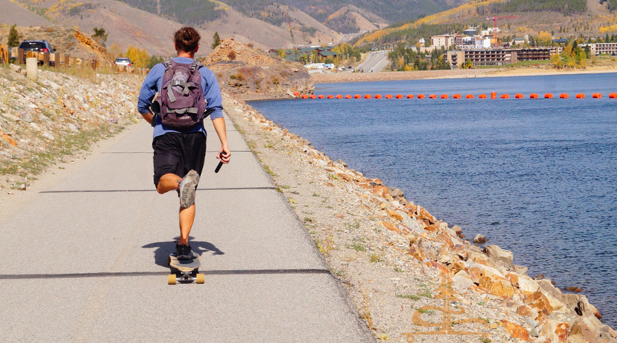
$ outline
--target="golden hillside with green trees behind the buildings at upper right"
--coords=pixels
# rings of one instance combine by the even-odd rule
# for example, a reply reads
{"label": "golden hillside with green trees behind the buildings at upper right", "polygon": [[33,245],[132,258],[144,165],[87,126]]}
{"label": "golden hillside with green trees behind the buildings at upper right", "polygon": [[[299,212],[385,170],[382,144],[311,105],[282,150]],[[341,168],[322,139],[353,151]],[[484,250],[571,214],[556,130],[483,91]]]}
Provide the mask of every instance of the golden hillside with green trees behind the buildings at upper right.
{"label": "golden hillside with green trees behind the buildings at upper right", "polygon": [[617,14],[610,8],[610,2],[595,0],[472,1],[416,21],[397,23],[370,32],[355,45],[393,40],[415,44],[420,38],[462,32],[469,26],[492,26],[493,22],[487,20],[487,16],[507,17],[498,22],[500,36],[503,37],[548,32],[564,38],[593,38],[617,32]]}

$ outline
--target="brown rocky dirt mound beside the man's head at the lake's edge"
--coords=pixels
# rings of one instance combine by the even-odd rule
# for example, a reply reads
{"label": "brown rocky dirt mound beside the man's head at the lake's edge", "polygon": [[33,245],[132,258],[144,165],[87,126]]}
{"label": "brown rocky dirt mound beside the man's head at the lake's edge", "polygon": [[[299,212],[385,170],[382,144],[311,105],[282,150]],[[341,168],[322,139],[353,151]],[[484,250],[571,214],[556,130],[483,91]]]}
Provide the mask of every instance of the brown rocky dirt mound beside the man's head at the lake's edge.
{"label": "brown rocky dirt mound beside the man's head at the lake's edge", "polygon": [[243,100],[291,97],[313,93],[302,64],[282,60],[233,38],[224,39],[202,60],[215,73],[221,91]]}

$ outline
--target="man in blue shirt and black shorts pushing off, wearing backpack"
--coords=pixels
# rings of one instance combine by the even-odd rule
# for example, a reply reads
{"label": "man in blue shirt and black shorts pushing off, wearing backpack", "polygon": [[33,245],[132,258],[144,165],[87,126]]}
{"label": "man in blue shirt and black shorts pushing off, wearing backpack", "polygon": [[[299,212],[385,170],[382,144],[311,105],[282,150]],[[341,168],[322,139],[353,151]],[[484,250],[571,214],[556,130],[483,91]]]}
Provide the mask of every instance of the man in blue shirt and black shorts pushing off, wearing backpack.
{"label": "man in blue shirt and black shorts pushing off, wearing backpack", "polygon": [[[229,163],[223,98],[210,69],[195,62],[199,33],[182,27],[174,35],[178,57],[156,64],[143,81],[137,110],[154,126],[154,185],[163,194],[178,191],[180,197],[180,241],[178,259],[193,259],[189,233],[195,220],[195,190],[206,154],[203,119],[210,116],[221,141],[216,158]],[[160,93],[156,101],[156,93]],[[157,113],[152,113],[151,110]]]}

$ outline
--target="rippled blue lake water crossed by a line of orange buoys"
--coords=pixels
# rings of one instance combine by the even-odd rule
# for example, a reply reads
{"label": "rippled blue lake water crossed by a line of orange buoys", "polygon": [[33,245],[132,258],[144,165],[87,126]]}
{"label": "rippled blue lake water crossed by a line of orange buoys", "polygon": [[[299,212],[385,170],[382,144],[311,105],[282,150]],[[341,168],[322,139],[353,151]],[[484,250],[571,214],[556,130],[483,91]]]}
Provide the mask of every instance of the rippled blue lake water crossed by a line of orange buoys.
{"label": "rippled blue lake water crossed by a line of orange buoys", "polygon": [[[480,93],[511,99],[478,99]],[[251,102],[330,158],[514,252],[528,274],[583,288],[617,328],[617,73],[318,84],[315,94],[427,99]],[[450,99],[428,99],[431,93]],[[452,99],[474,94],[475,99]],[[523,93],[527,99],[513,99]],[[554,93],[557,99],[529,99]],[[570,99],[558,99],[569,93]],[[586,99],[574,99],[585,93]],[[603,99],[592,99],[603,93]]]}

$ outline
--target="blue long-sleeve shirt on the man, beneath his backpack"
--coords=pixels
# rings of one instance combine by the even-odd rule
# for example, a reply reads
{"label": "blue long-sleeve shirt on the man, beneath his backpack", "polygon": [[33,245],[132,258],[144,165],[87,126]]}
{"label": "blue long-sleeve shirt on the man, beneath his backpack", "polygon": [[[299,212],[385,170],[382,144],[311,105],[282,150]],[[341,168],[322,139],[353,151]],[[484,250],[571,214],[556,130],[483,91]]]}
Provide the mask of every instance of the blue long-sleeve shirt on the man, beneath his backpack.
{"label": "blue long-sleeve shirt on the man, beneath his backpack", "polygon": [[[195,62],[192,58],[188,57],[176,57],[173,58],[174,62],[182,64],[192,64]],[[149,113],[149,108],[152,106],[152,100],[154,95],[160,91],[162,85],[162,77],[165,73],[165,64],[159,63],[154,66],[141,85],[141,91],[139,91],[139,98],[137,100],[137,110],[139,113],[145,115]],[[204,91],[204,99],[206,99],[206,110],[214,110],[210,113],[210,119],[214,120],[223,117],[223,97],[221,96],[221,88],[215,78],[215,75],[210,69],[206,67],[199,68],[199,73],[202,74],[202,90]],[[160,117],[156,116],[156,122],[154,123],[154,133],[152,138],[158,137],[167,132],[178,132],[165,126],[160,121]],[[203,132],[204,123],[199,123],[197,127],[189,132]]]}

